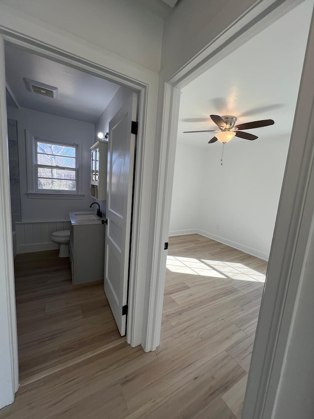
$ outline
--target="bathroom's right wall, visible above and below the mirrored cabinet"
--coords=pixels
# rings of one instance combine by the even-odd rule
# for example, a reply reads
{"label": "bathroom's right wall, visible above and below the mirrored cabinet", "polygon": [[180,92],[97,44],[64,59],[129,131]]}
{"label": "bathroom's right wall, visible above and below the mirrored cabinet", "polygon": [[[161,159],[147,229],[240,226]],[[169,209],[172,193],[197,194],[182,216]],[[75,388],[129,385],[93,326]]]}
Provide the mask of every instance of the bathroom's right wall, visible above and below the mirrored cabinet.
{"label": "bathroom's right wall, visible above and below the mirrored cabinet", "polygon": [[[132,94],[132,90],[128,89],[127,87],[120,87],[117,93],[113,96],[109,104],[107,105],[105,111],[100,115],[98,121],[95,124],[95,134],[102,132],[104,135],[109,131],[109,122],[113,118],[113,116],[119,111],[122,107],[123,103],[130,97]],[[95,141],[97,140],[95,136]],[[106,211],[106,201],[102,201],[100,199],[91,198],[95,202],[100,204],[101,210],[103,212]],[[94,205],[95,210],[96,205]]]}

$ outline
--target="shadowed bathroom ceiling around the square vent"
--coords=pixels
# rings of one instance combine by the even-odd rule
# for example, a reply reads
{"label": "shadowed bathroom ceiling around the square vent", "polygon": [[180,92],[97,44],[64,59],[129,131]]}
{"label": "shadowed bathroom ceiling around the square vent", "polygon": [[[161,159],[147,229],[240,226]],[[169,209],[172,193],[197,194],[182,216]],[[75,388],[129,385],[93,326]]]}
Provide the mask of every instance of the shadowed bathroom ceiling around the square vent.
{"label": "shadowed bathroom ceiling around the square vent", "polygon": [[[120,87],[47,58],[5,45],[6,83],[19,106],[95,123]],[[26,90],[23,79],[58,88],[52,99]]]}

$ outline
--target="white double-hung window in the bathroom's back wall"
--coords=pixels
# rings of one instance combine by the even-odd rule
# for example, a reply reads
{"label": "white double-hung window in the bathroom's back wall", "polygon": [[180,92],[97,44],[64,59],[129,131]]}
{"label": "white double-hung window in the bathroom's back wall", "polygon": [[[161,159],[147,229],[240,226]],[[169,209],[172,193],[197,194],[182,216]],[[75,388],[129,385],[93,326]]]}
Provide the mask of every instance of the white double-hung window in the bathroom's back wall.
{"label": "white double-hung window in the bathroom's back wall", "polygon": [[77,193],[77,145],[36,139],[34,146],[36,192]]}

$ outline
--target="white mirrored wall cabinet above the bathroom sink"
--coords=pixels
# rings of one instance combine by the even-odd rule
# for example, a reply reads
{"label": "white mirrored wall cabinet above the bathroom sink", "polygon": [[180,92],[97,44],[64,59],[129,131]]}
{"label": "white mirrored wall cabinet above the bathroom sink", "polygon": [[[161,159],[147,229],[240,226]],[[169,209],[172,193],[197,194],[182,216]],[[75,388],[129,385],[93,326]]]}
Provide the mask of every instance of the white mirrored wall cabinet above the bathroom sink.
{"label": "white mirrored wall cabinet above the bathroom sink", "polygon": [[99,140],[91,147],[90,195],[106,200],[108,141]]}

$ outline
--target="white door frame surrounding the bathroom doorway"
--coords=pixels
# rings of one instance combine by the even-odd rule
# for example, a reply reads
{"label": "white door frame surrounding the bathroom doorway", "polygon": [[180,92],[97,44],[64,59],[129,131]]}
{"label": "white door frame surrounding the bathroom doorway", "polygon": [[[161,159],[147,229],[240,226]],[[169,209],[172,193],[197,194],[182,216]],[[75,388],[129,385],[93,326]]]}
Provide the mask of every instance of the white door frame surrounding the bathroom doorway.
{"label": "white door frame surrounding the bathroom doorway", "polygon": [[[157,73],[115,56],[106,50],[82,42],[81,39],[54,28],[34,26],[26,17],[13,16],[1,10],[0,22],[0,329],[3,356],[0,359],[0,408],[14,401],[19,387],[18,345],[16,332],[16,307],[10,212],[10,184],[7,145],[7,114],[5,103],[4,42],[20,47],[65,65],[85,71],[113,83],[128,87],[138,94],[138,134],[136,167],[134,175],[133,225],[131,240],[131,263],[129,282],[129,312],[127,342],[132,346],[146,348],[143,334],[146,278],[150,276],[148,226],[151,214],[147,211],[150,202],[151,182],[156,144],[156,114],[159,76]],[[23,28],[23,34],[21,34]],[[2,288],[3,286],[3,288]],[[3,304],[2,304],[3,303]],[[3,326],[2,326],[3,325]],[[2,350],[2,346],[1,346]],[[3,371],[3,373],[2,373]],[[12,388],[8,386],[12,383]]]}

